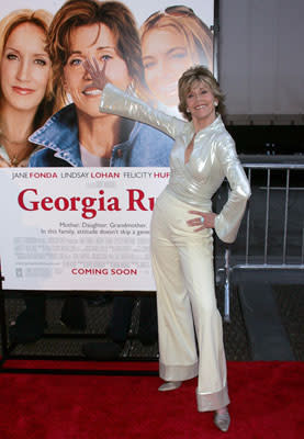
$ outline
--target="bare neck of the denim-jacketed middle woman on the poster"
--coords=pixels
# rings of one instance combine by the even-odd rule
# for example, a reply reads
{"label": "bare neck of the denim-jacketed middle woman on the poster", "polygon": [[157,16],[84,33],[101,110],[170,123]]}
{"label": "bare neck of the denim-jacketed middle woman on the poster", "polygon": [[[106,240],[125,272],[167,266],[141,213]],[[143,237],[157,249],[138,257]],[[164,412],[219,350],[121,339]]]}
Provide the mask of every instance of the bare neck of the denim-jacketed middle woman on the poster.
{"label": "bare neck of the denim-jacketed middle woman on the poster", "polygon": [[98,157],[110,158],[114,145],[124,142],[128,133],[122,127],[122,119],[112,114],[92,117],[78,114],[79,143]]}

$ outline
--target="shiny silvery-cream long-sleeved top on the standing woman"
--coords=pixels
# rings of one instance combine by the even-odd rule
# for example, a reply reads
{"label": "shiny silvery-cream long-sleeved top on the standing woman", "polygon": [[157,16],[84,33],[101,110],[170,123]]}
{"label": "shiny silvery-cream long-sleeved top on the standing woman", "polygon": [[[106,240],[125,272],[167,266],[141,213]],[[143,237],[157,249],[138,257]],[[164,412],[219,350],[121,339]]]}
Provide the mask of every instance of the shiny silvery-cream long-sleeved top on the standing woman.
{"label": "shiny silvery-cream long-sleeved top on the standing woman", "polygon": [[110,83],[103,89],[100,111],[144,122],[176,140],[170,155],[171,172],[166,190],[184,203],[211,212],[211,199],[226,177],[230,192],[215,218],[215,232],[225,243],[235,240],[250,196],[250,187],[237,158],[235,143],[219,115],[196,133],[190,160],[184,164],[184,150],[195,133],[192,122],[155,110]]}

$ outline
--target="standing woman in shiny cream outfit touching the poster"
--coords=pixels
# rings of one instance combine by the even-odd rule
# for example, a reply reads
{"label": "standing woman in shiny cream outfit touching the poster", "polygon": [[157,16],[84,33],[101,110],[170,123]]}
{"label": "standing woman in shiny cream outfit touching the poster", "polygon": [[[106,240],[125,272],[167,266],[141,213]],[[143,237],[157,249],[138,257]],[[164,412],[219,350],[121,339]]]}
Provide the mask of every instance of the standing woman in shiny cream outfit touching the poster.
{"label": "standing woman in shiny cream outfit touching the poster", "polygon": [[[214,228],[225,243],[235,240],[250,188],[219,115],[223,94],[205,67],[187,70],[179,80],[179,109],[188,121],[183,122],[105,86],[105,66],[100,70],[89,60],[86,66],[93,85],[102,90],[101,112],[157,126],[176,140],[169,183],[151,219],[160,376],[166,381],[159,390],[178,389],[182,381],[199,375],[199,412],[215,410],[215,425],[227,431],[229,397],[214,292],[212,235]],[[232,190],[215,214],[211,198],[225,177]]]}

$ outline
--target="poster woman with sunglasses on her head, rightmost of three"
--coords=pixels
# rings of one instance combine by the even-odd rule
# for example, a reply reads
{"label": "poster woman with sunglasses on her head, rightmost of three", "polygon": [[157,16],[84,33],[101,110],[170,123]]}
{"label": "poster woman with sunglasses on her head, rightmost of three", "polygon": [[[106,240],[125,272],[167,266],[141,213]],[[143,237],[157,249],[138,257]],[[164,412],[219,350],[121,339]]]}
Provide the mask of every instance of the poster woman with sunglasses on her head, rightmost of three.
{"label": "poster woman with sunglasses on her head, rightmost of three", "polygon": [[176,5],[151,14],[140,27],[140,41],[148,97],[180,117],[178,79],[196,64],[212,70],[212,32],[191,8]]}

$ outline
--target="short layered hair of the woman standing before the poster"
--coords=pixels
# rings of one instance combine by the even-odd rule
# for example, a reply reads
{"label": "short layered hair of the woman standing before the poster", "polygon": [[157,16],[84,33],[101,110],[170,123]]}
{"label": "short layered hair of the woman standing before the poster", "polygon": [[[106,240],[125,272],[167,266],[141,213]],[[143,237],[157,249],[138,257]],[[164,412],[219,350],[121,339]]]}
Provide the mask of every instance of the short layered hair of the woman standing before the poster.
{"label": "short layered hair of the woman standing before the poster", "polygon": [[193,87],[194,82],[203,81],[211,90],[214,98],[217,100],[216,112],[224,115],[225,97],[219,89],[217,80],[214,78],[212,72],[204,66],[194,66],[185,70],[179,79],[179,111],[188,120],[192,121],[191,113],[187,112],[187,94]]}

